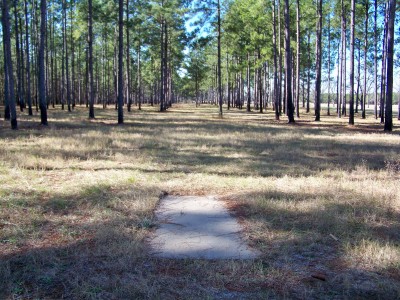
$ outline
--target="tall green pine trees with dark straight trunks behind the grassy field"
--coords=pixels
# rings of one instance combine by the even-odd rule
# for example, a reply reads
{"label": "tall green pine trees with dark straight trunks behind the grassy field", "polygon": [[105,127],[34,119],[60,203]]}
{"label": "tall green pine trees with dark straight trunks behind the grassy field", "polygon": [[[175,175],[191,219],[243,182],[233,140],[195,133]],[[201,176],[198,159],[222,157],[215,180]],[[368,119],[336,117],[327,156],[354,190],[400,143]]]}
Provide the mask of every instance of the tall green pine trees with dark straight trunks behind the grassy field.
{"label": "tall green pine trees with dark straight trunks behind the grassy field", "polygon": [[[395,0],[2,0],[4,117],[49,106],[268,107],[393,128]],[[397,81],[395,81],[397,82]],[[323,99],[324,98],[324,99]],[[253,106],[253,108],[252,108]],[[347,111],[348,110],[348,111]],[[400,118],[400,105],[399,105]]]}

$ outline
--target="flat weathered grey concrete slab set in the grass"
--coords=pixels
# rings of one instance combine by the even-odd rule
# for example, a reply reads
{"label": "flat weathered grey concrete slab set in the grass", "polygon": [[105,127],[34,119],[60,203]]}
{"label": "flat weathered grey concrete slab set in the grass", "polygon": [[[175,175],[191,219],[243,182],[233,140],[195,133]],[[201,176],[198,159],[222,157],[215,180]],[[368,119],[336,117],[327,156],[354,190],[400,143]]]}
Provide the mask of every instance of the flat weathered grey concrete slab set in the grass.
{"label": "flat weathered grey concrete slab set in the grass", "polygon": [[150,241],[164,258],[254,259],[240,224],[214,197],[167,196],[156,210],[159,227]]}

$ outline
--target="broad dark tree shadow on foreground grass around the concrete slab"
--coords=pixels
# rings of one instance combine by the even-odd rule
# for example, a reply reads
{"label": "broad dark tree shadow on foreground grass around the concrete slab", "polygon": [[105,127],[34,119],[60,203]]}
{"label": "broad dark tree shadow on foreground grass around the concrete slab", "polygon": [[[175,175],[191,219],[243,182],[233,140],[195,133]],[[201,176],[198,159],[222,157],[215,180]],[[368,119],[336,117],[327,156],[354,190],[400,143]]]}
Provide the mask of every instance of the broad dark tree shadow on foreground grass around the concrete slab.
{"label": "broad dark tree shadow on foreground grass around the concrete slab", "polygon": [[[347,243],[356,245],[361,237],[398,243],[399,213],[389,214],[372,200],[348,204],[332,201],[309,210],[282,205],[285,201],[317,201],[319,195],[308,192],[267,191],[236,196],[240,200],[234,207],[237,217],[262,224],[258,230],[266,233],[263,236],[263,232],[249,232],[253,246],[262,251],[259,259],[156,259],[149,254],[146,243],[150,223],[119,214],[109,220],[71,225],[69,231],[80,232],[76,239],[62,243],[51,236],[37,247],[0,254],[0,297],[398,297],[398,269],[368,269],[352,264],[345,249]],[[328,199],[333,196],[326,194]],[[270,199],[273,200],[268,202]],[[268,203],[262,205],[264,201]],[[391,228],[382,232],[365,221],[370,212],[375,212],[382,223],[391,223]],[[268,238],[273,232],[279,234]]]}

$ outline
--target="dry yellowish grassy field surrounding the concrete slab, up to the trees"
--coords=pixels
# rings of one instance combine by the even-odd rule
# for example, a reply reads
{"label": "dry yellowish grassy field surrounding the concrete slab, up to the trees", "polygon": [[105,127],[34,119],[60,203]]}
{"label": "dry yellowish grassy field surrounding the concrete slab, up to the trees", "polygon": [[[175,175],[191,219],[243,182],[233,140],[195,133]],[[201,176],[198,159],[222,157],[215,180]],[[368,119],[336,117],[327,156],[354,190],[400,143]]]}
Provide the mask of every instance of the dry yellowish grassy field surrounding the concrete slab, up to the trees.
{"label": "dry yellowish grassy field surrounding the concrete slab, up to the trees", "polygon": [[[0,121],[0,299],[400,298],[400,123],[176,105]],[[216,195],[254,261],[155,259],[154,208]]]}

